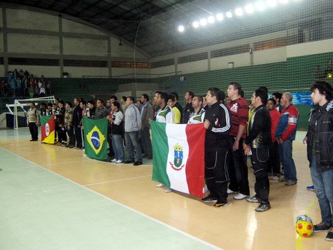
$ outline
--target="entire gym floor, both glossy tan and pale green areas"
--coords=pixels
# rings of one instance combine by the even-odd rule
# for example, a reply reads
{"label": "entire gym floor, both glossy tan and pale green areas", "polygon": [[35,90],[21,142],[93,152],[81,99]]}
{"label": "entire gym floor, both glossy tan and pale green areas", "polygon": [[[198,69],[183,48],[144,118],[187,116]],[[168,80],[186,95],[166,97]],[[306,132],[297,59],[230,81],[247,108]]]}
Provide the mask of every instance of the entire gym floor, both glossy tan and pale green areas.
{"label": "entire gym floor, both glossy tan and pale green areas", "polygon": [[[326,232],[300,238],[297,215],[321,222],[305,133],[293,158],[298,184],[271,180],[271,210],[235,201],[213,208],[166,193],[151,181],[152,160],[116,165],[83,151],[29,142],[27,129],[0,130],[0,249],[333,249]],[[249,168],[250,190],[254,176]]]}

